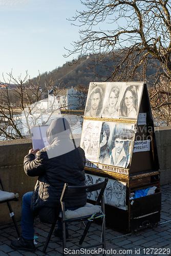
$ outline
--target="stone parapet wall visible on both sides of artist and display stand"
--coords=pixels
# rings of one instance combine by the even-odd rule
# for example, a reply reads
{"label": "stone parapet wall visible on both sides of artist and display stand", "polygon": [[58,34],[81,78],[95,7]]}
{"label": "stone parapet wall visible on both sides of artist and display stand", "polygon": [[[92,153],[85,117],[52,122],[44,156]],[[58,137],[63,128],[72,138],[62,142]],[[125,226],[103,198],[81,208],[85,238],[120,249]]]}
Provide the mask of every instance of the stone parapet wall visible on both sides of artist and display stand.
{"label": "stone parapet wall visible on both sides of artist and display stand", "polygon": [[[156,141],[161,170],[161,185],[171,183],[171,126],[156,128]],[[80,136],[75,136],[75,143],[80,144]],[[31,139],[0,141],[0,174],[6,191],[18,193],[18,202],[11,202],[17,221],[21,219],[22,197],[33,191],[37,177],[28,177],[23,169],[23,159],[32,147]],[[12,222],[7,204],[0,204],[0,225]]]}

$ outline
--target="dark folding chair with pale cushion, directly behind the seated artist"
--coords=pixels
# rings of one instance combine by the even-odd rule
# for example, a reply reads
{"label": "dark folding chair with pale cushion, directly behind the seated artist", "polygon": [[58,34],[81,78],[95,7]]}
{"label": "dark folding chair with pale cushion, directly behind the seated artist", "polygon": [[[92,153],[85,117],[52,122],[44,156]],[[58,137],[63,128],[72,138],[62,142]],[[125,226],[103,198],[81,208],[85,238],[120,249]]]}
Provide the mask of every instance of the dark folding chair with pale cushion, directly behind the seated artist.
{"label": "dark folding chair with pale cushion, directly behind the seated artist", "polygon": [[[103,255],[105,256],[105,209],[104,209],[104,189],[106,187],[106,184],[108,183],[108,178],[105,178],[104,181],[99,182],[97,184],[93,185],[84,185],[84,186],[68,186],[68,184],[65,183],[63,186],[62,194],[60,197],[60,204],[57,210],[57,220],[60,219],[62,223],[62,247],[63,247],[63,255],[65,255],[65,248],[66,248],[66,222],[77,222],[77,221],[88,221],[86,228],[84,229],[84,232],[82,235],[79,235],[80,241],[79,241],[79,248],[76,249],[86,249],[91,247],[96,247],[102,245],[103,248]],[[76,197],[76,195],[84,194],[84,193],[91,193],[93,191],[99,192],[99,196],[95,202],[95,204],[89,204],[87,203],[85,206],[80,207],[76,210],[67,210],[65,211],[65,197],[67,195],[70,195],[71,197]],[[99,205],[101,201],[101,206]],[[61,212],[60,212],[61,211]],[[60,214],[59,214],[60,213]],[[90,225],[92,221],[96,218],[103,218],[102,222],[102,241],[95,245],[90,245],[87,247],[81,247],[84,238],[86,237],[86,234],[90,228]],[[43,252],[46,252],[47,246],[49,244],[49,241],[51,239],[54,227],[56,225],[56,222],[52,224],[50,232],[48,234],[47,241],[45,243]],[[73,237],[75,238],[75,237]],[[72,248],[73,249],[73,248]]]}

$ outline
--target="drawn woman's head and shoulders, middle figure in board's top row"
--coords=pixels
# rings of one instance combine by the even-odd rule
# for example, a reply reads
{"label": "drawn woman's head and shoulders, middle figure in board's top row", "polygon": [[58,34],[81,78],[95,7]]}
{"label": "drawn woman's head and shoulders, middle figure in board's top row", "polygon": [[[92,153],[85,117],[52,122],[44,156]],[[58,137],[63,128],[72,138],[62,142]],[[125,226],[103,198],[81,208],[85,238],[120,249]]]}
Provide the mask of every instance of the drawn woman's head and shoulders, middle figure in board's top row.
{"label": "drawn woman's head and shoulders, middle figure in board's top row", "polygon": [[118,117],[117,102],[119,98],[119,92],[120,90],[118,86],[112,87],[108,96],[108,106],[104,109],[102,113],[102,117],[108,117],[108,118]]}

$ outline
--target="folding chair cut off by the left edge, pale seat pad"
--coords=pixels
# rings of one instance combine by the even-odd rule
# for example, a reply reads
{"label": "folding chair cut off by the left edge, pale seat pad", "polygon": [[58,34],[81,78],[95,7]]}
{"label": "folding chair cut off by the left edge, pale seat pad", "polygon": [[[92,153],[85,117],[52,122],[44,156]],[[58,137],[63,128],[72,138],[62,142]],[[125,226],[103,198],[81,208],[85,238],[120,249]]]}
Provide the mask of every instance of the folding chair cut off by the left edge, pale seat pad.
{"label": "folding chair cut off by the left edge, pale seat pad", "polygon": [[20,237],[20,231],[18,229],[16,220],[15,220],[14,212],[12,210],[11,204],[9,203],[11,201],[18,201],[18,198],[15,197],[15,195],[13,193],[5,191],[5,187],[4,187],[1,175],[0,175],[0,185],[2,187],[2,193],[1,194],[3,195],[2,199],[0,200],[0,204],[7,203],[9,211],[10,211],[10,217],[12,218],[13,223],[15,225],[15,229],[17,231],[18,237]]}

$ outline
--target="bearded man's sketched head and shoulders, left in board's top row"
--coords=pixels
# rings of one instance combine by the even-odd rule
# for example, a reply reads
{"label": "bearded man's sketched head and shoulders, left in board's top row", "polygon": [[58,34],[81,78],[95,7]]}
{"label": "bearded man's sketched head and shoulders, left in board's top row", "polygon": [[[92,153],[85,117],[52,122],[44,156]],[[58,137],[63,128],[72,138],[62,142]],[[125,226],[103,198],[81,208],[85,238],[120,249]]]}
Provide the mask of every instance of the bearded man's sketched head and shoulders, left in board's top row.
{"label": "bearded man's sketched head and shoulders, left in board's top row", "polygon": [[91,91],[88,98],[87,108],[84,116],[100,117],[103,106],[103,91],[100,87],[96,86]]}

